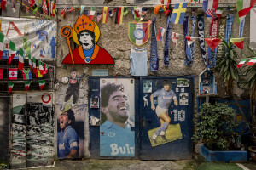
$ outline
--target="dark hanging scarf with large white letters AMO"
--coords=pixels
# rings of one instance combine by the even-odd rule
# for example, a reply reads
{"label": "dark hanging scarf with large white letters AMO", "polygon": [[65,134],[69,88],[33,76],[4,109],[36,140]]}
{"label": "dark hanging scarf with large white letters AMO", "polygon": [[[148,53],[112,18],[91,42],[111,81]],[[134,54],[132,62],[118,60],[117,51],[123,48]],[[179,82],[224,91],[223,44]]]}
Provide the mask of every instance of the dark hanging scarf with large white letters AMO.
{"label": "dark hanging scarf with large white letters AMO", "polygon": [[203,59],[204,64],[207,66],[207,51],[206,51],[206,42],[205,38],[205,26],[204,26],[204,15],[199,14],[197,16],[197,29],[198,29],[198,40],[199,40],[199,47],[201,51],[201,58]]}

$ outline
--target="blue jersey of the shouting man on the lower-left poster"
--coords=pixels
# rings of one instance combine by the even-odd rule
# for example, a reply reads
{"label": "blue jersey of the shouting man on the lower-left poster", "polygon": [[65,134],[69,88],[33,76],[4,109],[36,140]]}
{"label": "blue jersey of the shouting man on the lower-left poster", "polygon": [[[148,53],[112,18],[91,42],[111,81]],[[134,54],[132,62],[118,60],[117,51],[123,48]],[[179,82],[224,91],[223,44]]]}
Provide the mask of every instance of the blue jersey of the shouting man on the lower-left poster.
{"label": "blue jersey of the shouting man on the lower-left poster", "polygon": [[58,132],[58,158],[66,158],[71,150],[78,150],[79,155],[78,134],[68,126],[64,132]]}

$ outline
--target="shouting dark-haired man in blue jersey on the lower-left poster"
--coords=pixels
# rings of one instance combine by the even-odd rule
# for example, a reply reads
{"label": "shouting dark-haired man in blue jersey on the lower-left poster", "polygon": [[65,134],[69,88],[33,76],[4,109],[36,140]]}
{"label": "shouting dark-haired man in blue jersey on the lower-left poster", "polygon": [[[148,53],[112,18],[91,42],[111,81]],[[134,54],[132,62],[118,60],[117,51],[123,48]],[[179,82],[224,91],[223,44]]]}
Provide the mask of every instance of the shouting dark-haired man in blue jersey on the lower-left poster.
{"label": "shouting dark-haired man in blue jersey on the lower-left poster", "polygon": [[61,132],[58,132],[58,158],[79,157],[79,138],[73,129],[75,116],[73,111],[67,110],[60,116]]}

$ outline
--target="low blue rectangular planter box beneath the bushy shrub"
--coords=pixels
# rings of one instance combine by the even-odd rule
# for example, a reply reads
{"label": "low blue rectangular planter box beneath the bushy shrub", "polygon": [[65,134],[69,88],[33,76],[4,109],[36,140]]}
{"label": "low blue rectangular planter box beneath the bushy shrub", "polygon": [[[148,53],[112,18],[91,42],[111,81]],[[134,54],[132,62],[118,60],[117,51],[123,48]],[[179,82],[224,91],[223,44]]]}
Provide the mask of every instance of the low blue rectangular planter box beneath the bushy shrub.
{"label": "low blue rectangular planter box beneath the bushy shrub", "polygon": [[[256,148],[256,147],[255,147]],[[255,150],[256,151],[256,150]],[[241,150],[209,150],[204,144],[200,145],[200,155],[209,162],[245,162],[247,151]],[[256,155],[255,155],[256,156]]]}

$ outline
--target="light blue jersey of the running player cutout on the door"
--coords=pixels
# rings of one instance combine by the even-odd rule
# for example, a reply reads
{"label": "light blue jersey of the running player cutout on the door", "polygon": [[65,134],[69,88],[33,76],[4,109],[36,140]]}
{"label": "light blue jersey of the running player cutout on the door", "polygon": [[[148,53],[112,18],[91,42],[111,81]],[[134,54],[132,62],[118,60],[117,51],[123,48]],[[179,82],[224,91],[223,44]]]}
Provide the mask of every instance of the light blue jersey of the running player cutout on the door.
{"label": "light blue jersey of the running player cutout on the door", "polygon": [[164,88],[162,88],[154,92],[152,95],[154,98],[157,97],[157,105],[164,109],[168,109],[172,99],[177,99],[176,94],[172,89],[166,91]]}

